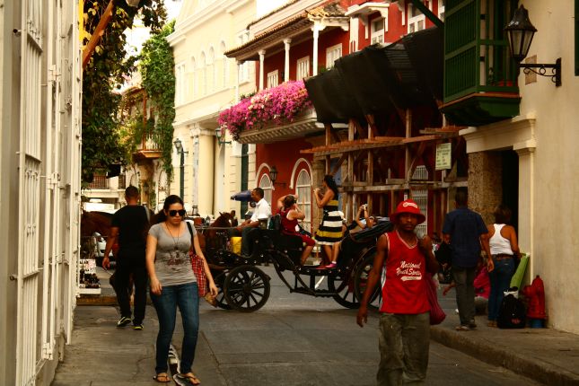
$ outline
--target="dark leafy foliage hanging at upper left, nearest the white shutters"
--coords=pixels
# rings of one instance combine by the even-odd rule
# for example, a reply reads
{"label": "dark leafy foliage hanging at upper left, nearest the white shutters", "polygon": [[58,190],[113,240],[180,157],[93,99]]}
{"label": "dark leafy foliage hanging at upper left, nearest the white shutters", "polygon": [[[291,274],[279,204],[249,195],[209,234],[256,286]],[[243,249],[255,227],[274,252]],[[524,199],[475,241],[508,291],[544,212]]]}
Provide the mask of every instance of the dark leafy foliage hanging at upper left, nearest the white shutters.
{"label": "dark leafy foliage hanging at upper left, nearest the white shutters", "polygon": [[[83,44],[95,31],[107,4],[109,0],[84,2],[83,25],[88,35]],[[83,182],[92,180],[94,172],[106,171],[112,163],[130,162],[130,144],[123,140],[120,127],[121,97],[116,89],[136,67],[136,57],[127,55],[124,35],[135,17],[152,31],[160,30],[166,19],[163,0],[141,0],[138,8],[115,1],[109,25],[83,70]]]}

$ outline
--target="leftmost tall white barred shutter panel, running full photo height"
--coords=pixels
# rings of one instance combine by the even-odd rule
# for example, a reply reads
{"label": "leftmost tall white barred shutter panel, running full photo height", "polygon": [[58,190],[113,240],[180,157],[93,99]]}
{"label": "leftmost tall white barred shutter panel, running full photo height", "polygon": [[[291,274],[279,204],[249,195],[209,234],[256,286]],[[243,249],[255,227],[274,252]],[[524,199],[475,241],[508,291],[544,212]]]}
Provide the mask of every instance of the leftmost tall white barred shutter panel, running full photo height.
{"label": "leftmost tall white barred shutter panel, running full photo height", "polygon": [[16,384],[35,383],[39,298],[42,9],[22,1]]}

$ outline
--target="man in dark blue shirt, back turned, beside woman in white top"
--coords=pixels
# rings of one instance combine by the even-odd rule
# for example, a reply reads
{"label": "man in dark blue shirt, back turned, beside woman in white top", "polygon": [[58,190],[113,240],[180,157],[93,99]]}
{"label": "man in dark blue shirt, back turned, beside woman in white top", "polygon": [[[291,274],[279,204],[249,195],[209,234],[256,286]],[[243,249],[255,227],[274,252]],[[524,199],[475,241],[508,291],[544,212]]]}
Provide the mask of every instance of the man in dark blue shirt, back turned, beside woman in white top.
{"label": "man in dark blue shirt, back turned, beside woman in white top", "polygon": [[[468,193],[466,189],[457,189],[454,196],[456,209],[444,218],[443,241],[451,245],[452,250],[452,277],[456,284],[456,303],[459,307],[461,325],[459,331],[476,329],[475,323],[475,271],[480,248],[490,256],[488,246],[487,225],[478,213],[467,206]],[[492,270],[492,259],[489,261],[488,271]]]}

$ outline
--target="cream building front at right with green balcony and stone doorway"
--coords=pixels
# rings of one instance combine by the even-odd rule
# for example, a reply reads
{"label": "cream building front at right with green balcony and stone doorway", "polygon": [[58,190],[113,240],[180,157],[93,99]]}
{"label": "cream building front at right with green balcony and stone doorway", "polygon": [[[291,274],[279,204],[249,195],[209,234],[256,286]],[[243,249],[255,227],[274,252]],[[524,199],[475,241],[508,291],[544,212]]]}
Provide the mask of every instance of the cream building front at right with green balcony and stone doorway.
{"label": "cream building front at right with green balcony and stone doorway", "polygon": [[[538,30],[523,64],[555,64],[560,58],[560,85],[551,76],[517,69],[504,27],[519,5]],[[548,325],[574,333],[579,314],[569,304],[579,301],[579,271],[571,268],[579,247],[573,226],[578,10],[577,1],[447,1],[442,107],[449,119],[469,126],[461,136],[469,154],[471,206],[489,222],[496,204],[511,206],[521,250],[531,255],[526,282],[541,276]],[[465,76],[456,74],[456,66]]]}

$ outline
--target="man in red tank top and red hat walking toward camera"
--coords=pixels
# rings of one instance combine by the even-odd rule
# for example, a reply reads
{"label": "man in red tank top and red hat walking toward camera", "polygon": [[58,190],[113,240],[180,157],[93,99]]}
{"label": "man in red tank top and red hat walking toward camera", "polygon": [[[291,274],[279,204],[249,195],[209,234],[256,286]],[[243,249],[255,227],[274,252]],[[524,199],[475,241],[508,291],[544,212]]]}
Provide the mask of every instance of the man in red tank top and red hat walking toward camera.
{"label": "man in red tank top and red hat walking toward camera", "polygon": [[438,263],[430,238],[418,240],[414,232],[417,224],[425,221],[416,202],[407,199],[399,203],[390,221],[395,224],[394,230],[378,239],[356,321],[360,327],[368,321],[368,300],[382,277],[378,384],[423,384],[430,347],[425,272],[435,274]]}

